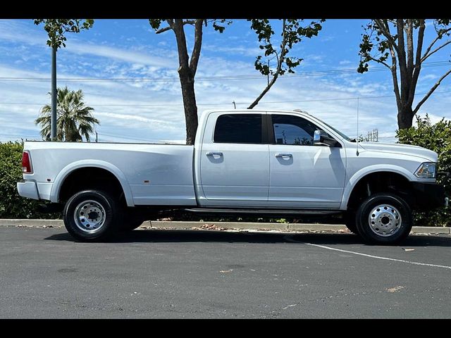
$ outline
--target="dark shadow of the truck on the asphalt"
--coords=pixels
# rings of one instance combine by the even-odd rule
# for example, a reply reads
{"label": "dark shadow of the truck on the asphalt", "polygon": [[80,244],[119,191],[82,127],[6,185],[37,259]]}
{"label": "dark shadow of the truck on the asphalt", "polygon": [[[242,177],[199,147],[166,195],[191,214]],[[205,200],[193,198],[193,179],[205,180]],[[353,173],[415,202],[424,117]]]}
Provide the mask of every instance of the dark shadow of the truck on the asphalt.
{"label": "dark shadow of the truck on the asphalt", "polygon": [[[67,232],[53,234],[47,240],[79,242]],[[296,232],[226,232],[218,230],[134,230],[123,232],[109,243],[222,242],[222,243],[291,243],[291,244],[364,244],[350,233]],[[451,237],[410,235],[397,246],[451,246]]]}

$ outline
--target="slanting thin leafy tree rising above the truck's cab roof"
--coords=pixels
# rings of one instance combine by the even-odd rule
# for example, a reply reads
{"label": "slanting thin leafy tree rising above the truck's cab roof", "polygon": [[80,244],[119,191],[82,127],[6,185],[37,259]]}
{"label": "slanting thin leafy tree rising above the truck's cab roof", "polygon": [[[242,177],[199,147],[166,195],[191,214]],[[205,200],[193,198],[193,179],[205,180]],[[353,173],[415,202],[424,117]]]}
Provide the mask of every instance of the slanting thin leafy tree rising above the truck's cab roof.
{"label": "slanting thin leafy tree rising above the truck's cab roof", "polygon": [[319,31],[322,29],[321,23],[325,20],[312,21],[309,25],[302,27],[304,19],[280,19],[282,21],[282,31],[280,32],[280,46],[275,49],[273,46],[273,25],[271,25],[268,19],[248,19],[251,22],[251,28],[257,34],[259,39],[260,49],[264,50],[264,56],[268,59],[276,58],[276,68],[271,69],[265,61],[262,60],[262,56],[257,56],[255,60],[255,69],[263,75],[271,75],[271,81],[268,80],[268,84],[263,89],[261,94],[257,96],[257,99],[252,102],[248,109],[254,108],[259,104],[259,101],[265,96],[265,94],[273,87],[276,80],[280,75],[288,73],[295,73],[295,68],[301,63],[302,58],[297,56],[288,56],[290,50],[295,44],[302,41],[303,37],[316,37]]}

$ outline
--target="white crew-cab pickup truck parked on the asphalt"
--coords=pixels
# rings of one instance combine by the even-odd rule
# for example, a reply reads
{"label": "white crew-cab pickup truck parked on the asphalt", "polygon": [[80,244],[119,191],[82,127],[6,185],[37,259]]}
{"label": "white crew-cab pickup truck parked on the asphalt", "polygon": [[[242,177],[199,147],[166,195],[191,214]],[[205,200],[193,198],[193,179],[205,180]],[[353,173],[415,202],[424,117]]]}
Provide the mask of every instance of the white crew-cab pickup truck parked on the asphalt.
{"label": "white crew-cab pickup truck parked on the asphalt", "polygon": [[437,154],[362,142],[302,111],[206,111],[194,146],[25,142],[20,196],[63,208],[95,241],[168,209],[279,215],[343,213],[366,242],[407,237],[412,211],[445,204]]}

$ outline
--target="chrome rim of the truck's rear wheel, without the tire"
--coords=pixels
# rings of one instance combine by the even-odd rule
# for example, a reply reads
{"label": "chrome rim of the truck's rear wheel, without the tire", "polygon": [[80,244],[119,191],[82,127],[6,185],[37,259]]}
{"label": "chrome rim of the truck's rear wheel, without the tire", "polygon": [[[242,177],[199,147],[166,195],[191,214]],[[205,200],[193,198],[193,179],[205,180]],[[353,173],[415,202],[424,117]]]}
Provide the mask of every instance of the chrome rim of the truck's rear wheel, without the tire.
{"label": "chrome rim of the truck's rear wheel, without the tire", "polygon": [[77,227],[88,233],[97,232],[105,224],[105,209],[96,201],[82,201],[75,208],[73,218]]}

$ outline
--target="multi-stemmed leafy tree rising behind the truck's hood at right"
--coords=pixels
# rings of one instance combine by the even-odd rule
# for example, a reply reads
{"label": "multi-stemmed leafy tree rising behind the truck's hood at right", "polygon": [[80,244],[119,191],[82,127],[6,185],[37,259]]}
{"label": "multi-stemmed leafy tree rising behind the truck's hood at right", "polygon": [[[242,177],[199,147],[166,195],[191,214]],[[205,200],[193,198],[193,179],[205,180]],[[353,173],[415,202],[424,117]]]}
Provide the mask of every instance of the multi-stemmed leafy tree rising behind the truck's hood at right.
{"label": "multi-stemmed leafy tree rising behind the truck's hood at right", "polygon": [[[425,19],[372,19],[364,26],[357,71],[365,73],[371,61],[381,63],[390,69],[396,96],[397,124],[400,129],[412,127],[414,115],[421,105],[451,73],[451,69],[447,70],[416,106],[413,106],[422,63],[451,44],[450,39],[446,41],[443,39],[450,37],[450,19],[434,19],[433,27],[434,38],[428,42],[426,50],[423,51]],[[391,62],[388,61],[389,58]]]}

